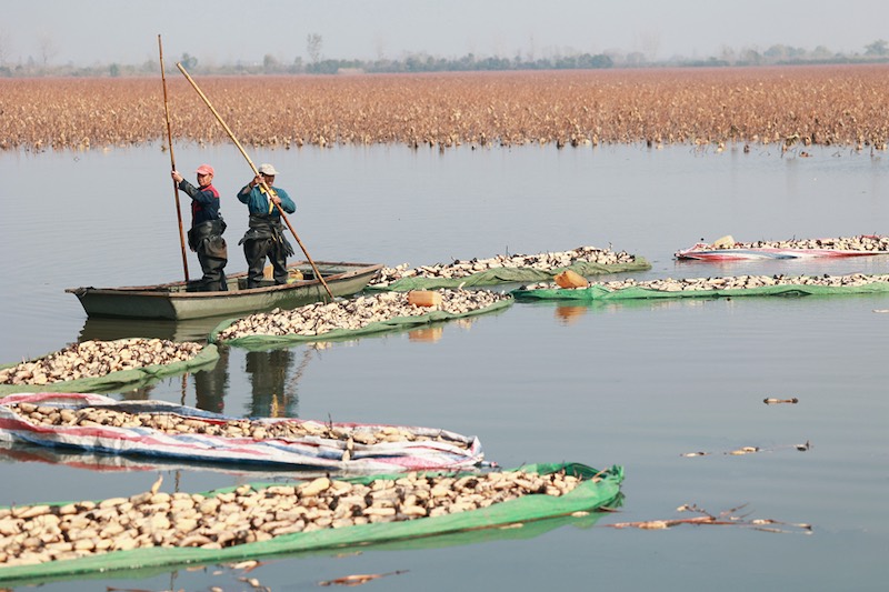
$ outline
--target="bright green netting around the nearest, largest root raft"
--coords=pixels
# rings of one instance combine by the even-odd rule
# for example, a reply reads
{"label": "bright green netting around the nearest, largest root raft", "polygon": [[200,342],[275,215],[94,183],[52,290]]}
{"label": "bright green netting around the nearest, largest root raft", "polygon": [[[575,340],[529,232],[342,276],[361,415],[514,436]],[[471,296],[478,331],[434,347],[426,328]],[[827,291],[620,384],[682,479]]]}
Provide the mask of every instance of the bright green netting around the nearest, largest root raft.
{"label": "bright green netting around the nearest, largest root raft", "polygon": [[[620,483],[623,481],[623,468],[615,465],[607,471],[597,471],[580,463],[531,464],[521,468],[528,472],[549,474],[566,471],[585,479],[575,490],[561,495],[546,494],[525,495],[508,502],[496,503],[488,508],[447,514],[434,518],[422,518],[402,522],[383,522],[359,524],[342,529],[322,529],[306,533],[293,533],[277,536],[270,541],[244,543],[224,549],[200,548],[151,548],[132,551],[113,551],[81,559],[56,561],[37,565],[17,565],[0,568],[0,582],[9,585],[16,583],[33,583],[36,579],[63,579],[96,572],[114,570],[148,570],[159,566],[207,564],[269,555],[337,549],[352,545],[376,544],[391,541],[403,541],[423,536],[449,533],[462,533],[479,529],[490,529],[505,524],[530,522],[556,516],[565,516],[575,512],[590,511],[613,504],[620,496]],[[599,481],[592,481],[598,475]],[[399,479],[403,475],[374,475],[354,478],[353,483],[369,483],[374,479]],[[262,489],[280,483],[256,484]],[[226,488],[204,495],[217,495],[233,491]],[[60,502],[57,505],[62,505]]]}

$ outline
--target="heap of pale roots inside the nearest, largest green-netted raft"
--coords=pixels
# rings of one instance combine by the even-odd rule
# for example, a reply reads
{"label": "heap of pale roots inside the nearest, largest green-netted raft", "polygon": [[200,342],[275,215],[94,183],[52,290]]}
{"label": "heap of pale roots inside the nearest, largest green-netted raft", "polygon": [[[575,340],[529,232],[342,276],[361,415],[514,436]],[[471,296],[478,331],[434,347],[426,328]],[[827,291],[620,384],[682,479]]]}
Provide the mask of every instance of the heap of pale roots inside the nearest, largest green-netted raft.
{"label": "heap of pale roots inside the nearest, largest green-netted raft", "polygon": [[[597,479],[597,478],[593,478]],[[563,472],[378,479],[319,478],[227,493],[151,491],[130,498],[0,510],[0,566],[39,564],[152,546],[222,549],[274,536],[455,514],[529,494],[559,496],[580,484]]]}

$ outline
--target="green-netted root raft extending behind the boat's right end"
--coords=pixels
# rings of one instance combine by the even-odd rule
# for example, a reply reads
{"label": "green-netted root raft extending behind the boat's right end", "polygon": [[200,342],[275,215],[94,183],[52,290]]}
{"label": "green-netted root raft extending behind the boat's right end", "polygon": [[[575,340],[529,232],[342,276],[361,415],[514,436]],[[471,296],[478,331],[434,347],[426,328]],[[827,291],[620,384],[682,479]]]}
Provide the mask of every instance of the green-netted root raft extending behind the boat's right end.
{"label": "green-netted root raft extending behind the boat's right end", "polygon": [[453,263],[422,265],[408,269],[407,263],[383,268],[368,290],[433,290],[437,288],[471,288],[513,282],[551,280],[570,269],[581,275],[645,271],[651,264],[625,251],[578,247],[570,251],[533,255],[496,255],[489,259],[456,260]]}

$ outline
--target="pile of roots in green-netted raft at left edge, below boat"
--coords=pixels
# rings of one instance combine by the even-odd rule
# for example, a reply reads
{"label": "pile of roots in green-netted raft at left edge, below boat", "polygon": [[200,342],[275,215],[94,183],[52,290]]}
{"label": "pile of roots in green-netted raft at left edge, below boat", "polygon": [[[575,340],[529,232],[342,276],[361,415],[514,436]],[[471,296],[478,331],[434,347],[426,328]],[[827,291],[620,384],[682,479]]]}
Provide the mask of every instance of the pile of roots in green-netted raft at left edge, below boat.
{"label": "pile of roots in green-netted raft at left edge, below boat", "polygon": [[51,384],[148,365],[191,360],[202,345],[162,339],[84,341],[38,360],[0,370],[0,384]]}

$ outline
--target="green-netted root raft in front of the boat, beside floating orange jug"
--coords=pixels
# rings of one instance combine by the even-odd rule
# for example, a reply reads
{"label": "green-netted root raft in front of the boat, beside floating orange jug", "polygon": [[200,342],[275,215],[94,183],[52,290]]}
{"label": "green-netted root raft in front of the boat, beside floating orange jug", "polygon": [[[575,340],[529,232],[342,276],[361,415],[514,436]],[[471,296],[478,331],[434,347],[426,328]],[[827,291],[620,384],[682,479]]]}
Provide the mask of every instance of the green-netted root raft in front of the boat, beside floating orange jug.
{"label": "green-netted root raft in front of the boat, beside floating orange jug", "polygon": [[292,310],[274,309],[221,322],[210,341],[267,349],[304,341],[352,339],[409,329],[436,321],[475,317],[512,304],[509,294],[488,290],[438,290],[440,305],[419,307],[404,292],[377,292],[350,300],[316,302]]}

